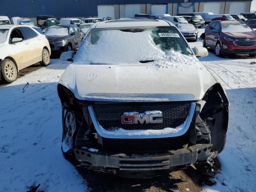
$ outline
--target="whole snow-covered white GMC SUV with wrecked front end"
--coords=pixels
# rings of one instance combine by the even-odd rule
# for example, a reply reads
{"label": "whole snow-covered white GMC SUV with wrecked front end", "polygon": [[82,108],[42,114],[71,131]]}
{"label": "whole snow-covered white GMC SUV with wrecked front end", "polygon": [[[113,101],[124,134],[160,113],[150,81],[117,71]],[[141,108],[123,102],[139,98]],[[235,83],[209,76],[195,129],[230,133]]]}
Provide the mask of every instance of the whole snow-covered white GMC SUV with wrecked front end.
{"label": "whole snow-covered white GMC SUV with wrecked front end", "polygon": [[194,52],[164,20],[90,28],[58,84],[64,156],[122,176],[212,166],[226,141],[229,104],[196,58],[207,50]]}

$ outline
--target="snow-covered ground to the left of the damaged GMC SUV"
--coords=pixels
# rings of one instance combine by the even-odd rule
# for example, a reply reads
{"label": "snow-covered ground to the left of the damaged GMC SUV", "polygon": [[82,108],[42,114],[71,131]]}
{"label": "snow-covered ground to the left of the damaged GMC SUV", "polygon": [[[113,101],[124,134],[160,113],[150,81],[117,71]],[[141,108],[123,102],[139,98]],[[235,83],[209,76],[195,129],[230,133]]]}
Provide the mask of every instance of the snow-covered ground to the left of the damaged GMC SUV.
{"label": "snow-covered ground to the left of the damaged GMC SUV", "polygon": [[[58,61],[58,63],[56,63]],[[62,155],[62,117],[58,76],[67,64],[52,60],[0,87],[0,191],[84,192],[88,188]],[[39,82],[40,81],[40,82]],[[22,93],[26,83],[25,92]]]}

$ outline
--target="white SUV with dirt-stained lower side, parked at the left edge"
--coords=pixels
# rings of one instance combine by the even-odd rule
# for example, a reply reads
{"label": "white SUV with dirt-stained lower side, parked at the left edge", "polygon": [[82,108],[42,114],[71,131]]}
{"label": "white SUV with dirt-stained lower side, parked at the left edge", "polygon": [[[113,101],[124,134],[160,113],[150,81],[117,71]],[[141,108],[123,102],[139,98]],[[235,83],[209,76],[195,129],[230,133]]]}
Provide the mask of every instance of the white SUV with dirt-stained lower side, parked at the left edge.
{"label": "white SUV with dirt-stained lower side, parked at the left edge", "polygon": [[50,63],[49,42],[40,28],[24,25],[0,26],[0,79],[8,83],[17,78],[19,70],[41,62]]}

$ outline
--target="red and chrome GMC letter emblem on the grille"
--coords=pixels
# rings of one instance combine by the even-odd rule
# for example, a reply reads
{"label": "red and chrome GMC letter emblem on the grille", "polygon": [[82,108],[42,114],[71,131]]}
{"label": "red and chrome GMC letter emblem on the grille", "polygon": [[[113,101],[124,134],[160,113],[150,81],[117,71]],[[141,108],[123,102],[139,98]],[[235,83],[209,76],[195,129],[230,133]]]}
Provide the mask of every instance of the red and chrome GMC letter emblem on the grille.
{"label": "red and chrome GMC letter emblem on the grille", "polygon": [[148,123],[162,123],[162,112],[159,113],[142,113],[142,114],[124,114],[122,115],[122,124],[148,124]]}

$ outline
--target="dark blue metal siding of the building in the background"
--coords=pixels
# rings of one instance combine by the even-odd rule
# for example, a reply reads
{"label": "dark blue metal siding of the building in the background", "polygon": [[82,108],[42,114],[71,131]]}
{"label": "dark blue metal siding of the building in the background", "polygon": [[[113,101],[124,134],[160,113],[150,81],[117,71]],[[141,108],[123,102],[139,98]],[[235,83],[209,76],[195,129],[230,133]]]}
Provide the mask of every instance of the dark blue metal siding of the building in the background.
{"label": "dark blue metal siding of the building in the background", "polygon": [[[213,1],[216,2],[216,0],[204,0],[203,2]],[[232,0],[232,2],[234,1],[241,0]],[[182,3],[184,0],[78,0],[78,2],[75,2],[75,0],[34,0],[34,3],[32,3],[32,0],[1,0],[0,13],[9,17],[36,17],[40,14],[57,17],[97,16],[98,5],[168,4],[178,2]],[[202,1],[190,0],[190,2]],[[45,9],[42,10],[41,6],[45,7]]]}

